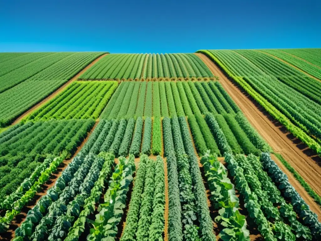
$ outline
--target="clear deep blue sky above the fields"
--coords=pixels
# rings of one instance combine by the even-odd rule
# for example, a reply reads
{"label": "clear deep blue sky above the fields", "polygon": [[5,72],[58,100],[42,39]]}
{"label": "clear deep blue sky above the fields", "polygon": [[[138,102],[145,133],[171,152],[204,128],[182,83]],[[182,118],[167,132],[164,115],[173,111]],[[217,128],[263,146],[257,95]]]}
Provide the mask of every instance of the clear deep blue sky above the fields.
{"label": "clear deep blue sky above the fields", "polygon": [[320,48],[318,0],[0,0],[0,52]]}

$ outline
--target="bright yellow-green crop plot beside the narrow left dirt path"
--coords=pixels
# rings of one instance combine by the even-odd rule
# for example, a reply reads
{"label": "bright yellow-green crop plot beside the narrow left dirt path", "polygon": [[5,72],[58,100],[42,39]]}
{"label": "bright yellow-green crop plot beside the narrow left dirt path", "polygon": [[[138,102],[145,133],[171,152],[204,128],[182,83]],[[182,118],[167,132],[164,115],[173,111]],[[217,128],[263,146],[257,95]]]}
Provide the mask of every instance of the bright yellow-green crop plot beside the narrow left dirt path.
{"label": "bright yellow-green crop plot beside the narrow left dirt path", "polygon": [[117,82],[74,82],[26,120],[97,119],[118,86]]}

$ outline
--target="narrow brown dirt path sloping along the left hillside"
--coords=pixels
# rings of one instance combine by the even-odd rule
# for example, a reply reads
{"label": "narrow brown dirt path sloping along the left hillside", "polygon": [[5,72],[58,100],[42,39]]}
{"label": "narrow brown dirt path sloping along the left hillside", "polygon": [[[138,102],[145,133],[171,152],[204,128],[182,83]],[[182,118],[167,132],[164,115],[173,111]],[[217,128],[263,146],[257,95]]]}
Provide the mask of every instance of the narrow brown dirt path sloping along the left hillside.
{"label": "narrow brown dirt path sloping along the left hillside", "polygon": [[89,65],[87,65],[84,69],[82,69],[78,74],[76,74],[73,78],[68,80],[64,85],[60,86],[55,92],[47,96],[45,99],[40,101],[38,104],[31,107],[28,111],[24,112],[20,117],[18,117],[11,125],[15,125],[19,123],[23,118],[25,118],[27,115],[29,115],[31,112],[35,111],[36,109],[42,107],[45,105],[48,101],[55,98],[58,94],[60,94],[62,91],[64,91],[71,83],[76,81],[78,77],[80,77],[83,73],[85,73],[90,67],[92,67],[94,64],[96,64],[101,58],[108,55],[108,53],[101,55],[100,57],[96,58],[94,61],[92,61]]}

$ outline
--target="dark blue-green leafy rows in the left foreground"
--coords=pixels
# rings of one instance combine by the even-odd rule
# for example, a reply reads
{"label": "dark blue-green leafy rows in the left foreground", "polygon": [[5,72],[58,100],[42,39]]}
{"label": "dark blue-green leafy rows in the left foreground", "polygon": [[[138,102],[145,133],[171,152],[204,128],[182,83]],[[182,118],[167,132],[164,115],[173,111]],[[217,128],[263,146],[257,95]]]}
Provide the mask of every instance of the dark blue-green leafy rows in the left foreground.
{"label": "dark blue-green leafy rows in the left foreground", "polygon": [[[90,200],[91,192],[101,190],[104,183],[107,183],[112,173],[114,156],[108,153],[95,156],[90,153],[79,156],[73,162],[75,165],[68,165],[55,186],[28,212],[27,218],[16,230],[16,239],[63,239],[71,226],[70,222]],[[26,232],[26,229],[29,231]]]}

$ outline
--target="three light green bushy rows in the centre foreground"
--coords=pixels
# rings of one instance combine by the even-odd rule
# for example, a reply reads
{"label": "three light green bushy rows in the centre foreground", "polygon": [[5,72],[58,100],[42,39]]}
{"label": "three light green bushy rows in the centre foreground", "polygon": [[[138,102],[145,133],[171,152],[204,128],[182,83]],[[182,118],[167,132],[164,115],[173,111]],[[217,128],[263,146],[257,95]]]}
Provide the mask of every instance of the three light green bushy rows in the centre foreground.
{"label": "three light green bushy rows in the centre foreground", "polygon": [[162,240],[164,233],[165,179],[160,156],[156,162],[140,157],[139,169],[121,241]]}

